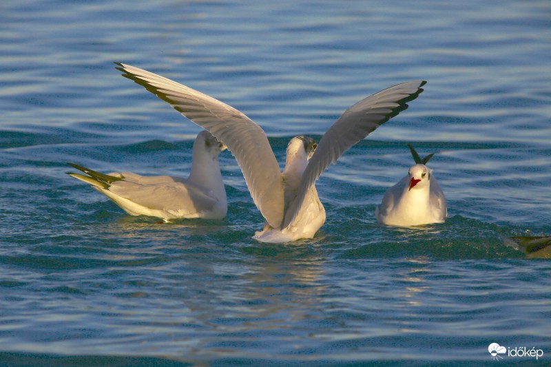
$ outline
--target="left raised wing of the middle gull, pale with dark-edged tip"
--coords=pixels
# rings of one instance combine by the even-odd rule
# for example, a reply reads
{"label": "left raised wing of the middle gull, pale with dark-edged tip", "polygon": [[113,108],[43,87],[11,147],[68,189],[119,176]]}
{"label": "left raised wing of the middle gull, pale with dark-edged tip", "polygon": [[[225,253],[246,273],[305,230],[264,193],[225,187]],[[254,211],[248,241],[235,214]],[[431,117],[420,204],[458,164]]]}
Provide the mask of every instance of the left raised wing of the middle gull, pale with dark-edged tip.
{"label": "left raised wing of the middle gull, pale with dark-edged tip", "polygon": [[256,123],[237,109],[185,85],[125,65],[125,78],[145,87],[160,99],[224,143],[236,157],[256,207],[267,222],[279,228],[283,221],[283,183],[278,161],[268,138]]}

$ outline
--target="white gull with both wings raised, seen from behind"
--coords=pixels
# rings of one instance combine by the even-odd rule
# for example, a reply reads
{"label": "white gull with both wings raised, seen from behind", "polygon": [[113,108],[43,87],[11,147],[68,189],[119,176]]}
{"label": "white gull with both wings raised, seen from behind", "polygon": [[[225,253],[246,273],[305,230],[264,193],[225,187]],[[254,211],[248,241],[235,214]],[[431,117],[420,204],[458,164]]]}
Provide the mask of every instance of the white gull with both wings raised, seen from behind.
{"label": "white gull with both wings raised, seen from behind", "polygon": [[236,157],[253,201],[266,220],[253,236],[262,242],[312,238],[325,222],[315,180],[350,147],[408,107],[425,81],[402,83],[362,99],[322,136],[319,145],[289,142],[283,172],[264,131],[237,109],[146,70],[116,63],[123,76],[145,87],[222,141]]}

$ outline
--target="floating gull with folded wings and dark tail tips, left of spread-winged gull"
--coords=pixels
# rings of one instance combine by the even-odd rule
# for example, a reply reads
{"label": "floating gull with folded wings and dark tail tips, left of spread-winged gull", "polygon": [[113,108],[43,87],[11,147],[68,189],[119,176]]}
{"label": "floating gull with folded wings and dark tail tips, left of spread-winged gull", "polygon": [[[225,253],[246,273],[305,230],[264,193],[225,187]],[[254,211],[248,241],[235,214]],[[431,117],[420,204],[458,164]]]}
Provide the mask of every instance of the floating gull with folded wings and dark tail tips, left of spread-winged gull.
{"label": "floating gull with folded wings and dark tail tips, left of spread-winged gull", "polygon": [[67,172],[105,194],[131,216],[222,219],[228,205],[218,155],[226,147],[203,130],[194,142],[188,178],[140,176],[132,172],[101,174],[73,163],[83,174]]}

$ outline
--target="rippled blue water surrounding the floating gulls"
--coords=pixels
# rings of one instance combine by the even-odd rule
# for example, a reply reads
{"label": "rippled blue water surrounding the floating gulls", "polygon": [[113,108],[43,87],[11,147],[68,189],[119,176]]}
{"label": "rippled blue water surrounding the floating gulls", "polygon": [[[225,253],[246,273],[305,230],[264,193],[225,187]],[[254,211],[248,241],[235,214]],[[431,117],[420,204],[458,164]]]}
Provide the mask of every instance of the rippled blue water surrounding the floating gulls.
{"label": "rippled blue water surrounding the floating gulls", "polygon": [[[551,3],[0,3],[0,364],[549,364]],[[131,217],[65,175],[187,176],[200,131],[114,61],[185,83],[261,125],[284,162],[361,98],[428,81],[318,180],[327,220],[293,244],[262,227],[220,156],[225,220]],[[382,227],[384,191],[422,156],[449,218]]]}

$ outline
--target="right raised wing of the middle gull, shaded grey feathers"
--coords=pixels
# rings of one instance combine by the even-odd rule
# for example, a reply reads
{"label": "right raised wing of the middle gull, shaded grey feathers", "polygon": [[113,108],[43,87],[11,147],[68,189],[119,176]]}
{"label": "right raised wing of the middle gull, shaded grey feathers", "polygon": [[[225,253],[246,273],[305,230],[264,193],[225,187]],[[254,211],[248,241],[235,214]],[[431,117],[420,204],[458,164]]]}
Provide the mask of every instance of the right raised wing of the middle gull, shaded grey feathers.
{"label": "right raised wing of the middle gull, shaded grey feathers", "polygon": [[300,182],[297,200],[293,203],[294,208],[285,216],[283,227],[289,226],[296,218],[306,192],[327,167],[336,162],[344,151],[408,108],[406,103],[417,98],[423,92],[421,87],[425,84],[426,81],[398,84],[368,96],[346,109],[322,136],[320,144],[309,160]]}

